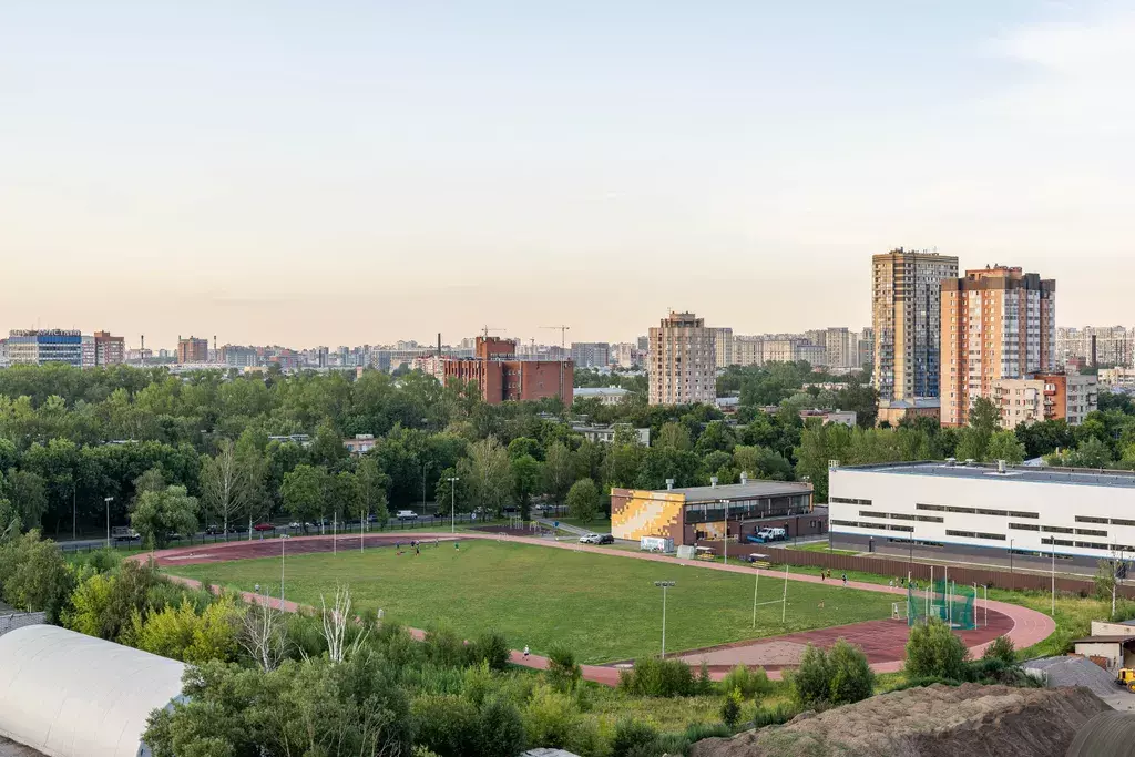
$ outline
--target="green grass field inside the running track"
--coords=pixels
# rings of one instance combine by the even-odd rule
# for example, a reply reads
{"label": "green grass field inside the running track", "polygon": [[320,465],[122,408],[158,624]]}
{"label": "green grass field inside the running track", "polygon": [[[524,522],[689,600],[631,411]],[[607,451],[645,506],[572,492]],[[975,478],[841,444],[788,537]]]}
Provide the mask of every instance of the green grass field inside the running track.
{"label": "green grass field inside the running track", "polygon": [[[279,595],[280,561],[244,560],[171,569],[178,575]],[[582,662],[653,654],[661,648],[662,590],[667,590],[666,649],[678,651],[890,616],[891,598],[790,581],[788,622],[779,604],[757,608],[754,577],[701,567],[494,541],[443,542],[420,556],[393,548],[289,557],[285,596],[318,606],[320,592],[348,584],[358,608],[382,608],[415,628],[446,625],[473,637],[495,628],[516,648],[544,653],[569,644]],[[763,577],[758,602],[780,599],[783,580]],[[823,603],[823,607],[818,605]]]}

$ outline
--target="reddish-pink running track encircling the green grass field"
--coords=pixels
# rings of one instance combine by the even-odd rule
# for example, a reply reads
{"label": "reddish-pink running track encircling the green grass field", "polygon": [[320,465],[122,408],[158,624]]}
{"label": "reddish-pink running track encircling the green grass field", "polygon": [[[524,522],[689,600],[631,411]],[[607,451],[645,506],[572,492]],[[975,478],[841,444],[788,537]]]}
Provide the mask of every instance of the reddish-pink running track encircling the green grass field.
{"label": "reddish-pink running track encircling the green grass field", "polygon": [[[638,553],[638,552],[625,552],[620,549],[604,549],[603,547],[595,547],[589,545],[580,545],[575,542],[562,542],[562,541],[548,541],[546,539],[537,539],[532,537],[516,537],[516,536],[497,536],[494,533],[471,533],[462,532],[454,536],[448,536],[438,532],[400,532],[397,535],[389,533],[368,533],[364,538],[364,546],[367,547],[381,547],[389,546],[395,542],[407,542],[411,539],[420,539],[422,541],[434,541],[435,539],[440,539],[443,541],[452,541],[454,539],[466,541],[470,539],[497,539],[505,541],[513,541],[519,544],[528,544],[538,547],[549,547],[554,549],[572,549],[575,552],[591,552],[595,554],[607,555],[613,557],[624,557],[628,560],[650,560],[655,562],[664,562],[669,565],[679,564],[689,567],[697,567],[701,570],[716,570],[716,571],[730,571],[733,573],[745,573],[746,575],[751,575],[754,572],[758,572],[757,569],[750,567],[748,565],[722,565],[718,563],[705,563],[699,561],[690,560],[676,560],[674,557],[667,557],[665,555],[656,555],[650,553]],[[333,546],[331,540],[336,539],[337,545]],[[311,554],[311,553],[322,553],[331,552],[333,548],[342,549],[344,552],[350,552],[352,549],[359,548],[359,537],[350,536],[310,536],[310,537],[292,537],[287,540],[287,553],[291,555],[296,554]],[[154,564],[162,567],[174,567],[177,565],[190,565],[200,563],[215,563],[215,562],[228,562],[233,560],[249,560],[254,557],[274,557],[279,554],[280,540],[279,539],[266,539],[266,540],[253,540],[253,541],[228,541],[221,544],[193,546],[193,547],[177,547],[174,549],[162,549],[152,555],[142,554],[135,555],[129,560],[137,562],[149,561],[151,557]],[[779,571],[767,571],[759,570],[764,575],[770,578],[783,578],[784,574]],[[186,586],[199,586],[196,581],[191,579],[185,579],[180,577],[170,577],[175,581],[184,583]],[[819,583],[821,579],[816,575],[804,575],[798,573],[789,574],[790,581],[805,581],[810,583]],[[864,591],[878,591],[881,594],[892,594],[897,600],[906,597],[906,589],[900,587],[885,587],[876,583],[864,583],[860,581],[850,581],[848,587],[852,589],[861,589]],[[254,595],[252,592],[243,592],[243,599],[249,603],[258,602],[270,602],[269,598]],[[278,600],[274,604],[278,604]],[[984,603],[982,603],[984,606]],[[292,602],[284,603],[284,609],[288,612],[296,612],[299,605]],[[1031,647],[1032,645],[1043,641],[1056,630],[1056,623],[1051,617],[1043,613],[1039,613],[1035,609],[1029,609],[1027,607],[1020,607],[1018,605],[1011,605],[1002,602],[990,602],[989,603],[990,613],[990,626],[989,629],[981,629],[978,631],[967,631],[962,632],[960,636],[967,642],[972,644],[969,650],[970,654],[980,656],[985,647],[995,636],[1006,634],[1012,639],[1014,646],[1018,649],[1025,647]],[[991,636],[992,633],[992,636]],[[414,638],[421,639],[424,632],[418,629],[411,629],[411,634]],[[721,678],[724,671],[733,664],[745,663],[747,657],[751,657],[755,647],[760,645],[767,645],[773,641],[794,641],[798,644],[813,642],[819,646],[827,646],[835,641],[836,638],[847,638],[848,640],[863,646],[868,654],[868,661],[872,663],[871,667],[876,673],[893,673],[902,668],[902,657],[903,657],[903,646],[906,644],[907,628],[906,625],[897,621],[871,621],[867,623],[855,623],[851,625],[834,626],[829,629],[817,629],[815,631],[806,631],[802,633],[792,633],[784,637],[772,637],[764,638],[759,640],[754,640],[753,642],[740,642],[733,645],[726,645],[724,647],[716,647],[713,649],[699,650],[695,654],[705,654],[713,662],[713,675],[714,678]],[[687,657],[690,653],[687,653]],[[536,655],[530,655],[528,658],[516,650],[512,653],[512,662],[516,665],[524,665],[527,667],[533,667],[543,670],[547,667],[547,659],[544,657],[538,657]],[[776,670],[771,670],[770,678],[780,678],[780,672]],[[583,678],[589,681],[596,681],[598,683],[605,683],[608,685],[614,685],[619,682],[619,668],[614,666],[606,665],[585,665],[583,666]]]}

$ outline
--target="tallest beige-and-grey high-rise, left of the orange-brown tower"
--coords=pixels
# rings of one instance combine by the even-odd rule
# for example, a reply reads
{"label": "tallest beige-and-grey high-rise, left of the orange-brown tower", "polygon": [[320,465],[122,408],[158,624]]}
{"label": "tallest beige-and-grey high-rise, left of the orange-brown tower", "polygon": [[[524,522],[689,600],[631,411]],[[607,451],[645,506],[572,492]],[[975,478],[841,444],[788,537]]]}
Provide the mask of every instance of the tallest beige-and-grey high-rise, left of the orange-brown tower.
{"label": "tallest beige-and-grey high-rise, left of the orange-brown tower", "polygon": [[899,247],[874,255],[872,268],[872,381],[878,398],[936,397],[942,279],[958,276],[958,259]]}

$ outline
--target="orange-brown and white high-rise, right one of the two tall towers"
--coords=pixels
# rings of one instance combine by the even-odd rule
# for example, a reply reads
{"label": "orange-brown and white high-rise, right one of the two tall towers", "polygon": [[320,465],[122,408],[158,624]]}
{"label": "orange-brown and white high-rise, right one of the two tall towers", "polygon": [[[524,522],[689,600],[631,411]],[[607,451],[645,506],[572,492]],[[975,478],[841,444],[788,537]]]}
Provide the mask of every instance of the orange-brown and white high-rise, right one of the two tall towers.
{"label": "orange-brown and white high-rise, right one of the two tall towers", "polygon": [[962,426],[999,379],[1056,368],[1056,281],[997,266],[942,281],[942,424]]}

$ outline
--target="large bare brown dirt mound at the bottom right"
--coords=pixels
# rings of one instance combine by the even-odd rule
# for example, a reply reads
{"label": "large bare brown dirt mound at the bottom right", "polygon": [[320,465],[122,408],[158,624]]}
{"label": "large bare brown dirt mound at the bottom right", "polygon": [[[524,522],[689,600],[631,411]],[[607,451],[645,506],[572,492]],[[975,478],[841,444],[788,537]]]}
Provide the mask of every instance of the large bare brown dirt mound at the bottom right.
{"label": "large bare brown dirt mound at the bottom right", "polygon": [[1088,689],[935,684],[872,697],[732,739],[692,757],[1063,757],[1079,727],[1108,710]]}

